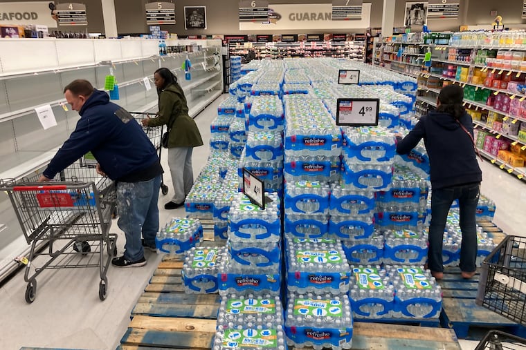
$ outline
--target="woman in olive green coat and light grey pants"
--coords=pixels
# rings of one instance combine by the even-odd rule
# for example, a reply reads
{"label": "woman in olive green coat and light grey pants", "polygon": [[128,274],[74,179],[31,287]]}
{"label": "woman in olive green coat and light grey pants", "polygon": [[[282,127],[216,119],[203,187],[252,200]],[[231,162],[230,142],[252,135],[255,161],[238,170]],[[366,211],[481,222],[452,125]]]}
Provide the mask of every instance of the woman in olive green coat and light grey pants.
{"label": "woman in olive green coat and light grey pants", "polygon": [[172,200],[165,204],[165,209],[175,209],[184,205],[194,184],[192,150],[203,146],[203,139],[194,119],[188,115],[185,94],[176,76],[168,68],[159,68],[154,73],[154,82],[159,97],[159,111],[157,117],[143,119],[143,125],[166,125],[170,130],[168,166],[175,193]]}

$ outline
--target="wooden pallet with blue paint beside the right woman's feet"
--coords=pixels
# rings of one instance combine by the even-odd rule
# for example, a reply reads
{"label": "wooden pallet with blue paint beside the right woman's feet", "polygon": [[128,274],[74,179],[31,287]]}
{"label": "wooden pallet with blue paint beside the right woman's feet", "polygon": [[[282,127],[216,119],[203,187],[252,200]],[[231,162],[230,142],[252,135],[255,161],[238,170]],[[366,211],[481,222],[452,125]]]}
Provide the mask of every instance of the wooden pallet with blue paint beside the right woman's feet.
{"label": "wooden pallet with blue paint beside the right woman's feet", "polygon": [[525,337],[526,328],[475,304],[479,274],[464,280],[460,269],[444,269],[442,287],[442,313],[440,324],[455,331],[460,339],[480,340],[490,329],[498,329]]}

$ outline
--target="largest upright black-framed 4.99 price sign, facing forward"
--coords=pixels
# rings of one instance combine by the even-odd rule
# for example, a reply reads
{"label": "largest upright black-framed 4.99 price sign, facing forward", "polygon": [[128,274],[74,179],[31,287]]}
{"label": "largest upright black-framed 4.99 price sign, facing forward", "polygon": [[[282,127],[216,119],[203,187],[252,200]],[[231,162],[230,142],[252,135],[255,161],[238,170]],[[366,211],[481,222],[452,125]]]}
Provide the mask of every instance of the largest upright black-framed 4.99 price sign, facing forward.
{"label": "largest upright black-framed 4.99 price sign, facing forward", "polygon": [[379,99],[338,99],[336,104],[336,125],[378,125]]}

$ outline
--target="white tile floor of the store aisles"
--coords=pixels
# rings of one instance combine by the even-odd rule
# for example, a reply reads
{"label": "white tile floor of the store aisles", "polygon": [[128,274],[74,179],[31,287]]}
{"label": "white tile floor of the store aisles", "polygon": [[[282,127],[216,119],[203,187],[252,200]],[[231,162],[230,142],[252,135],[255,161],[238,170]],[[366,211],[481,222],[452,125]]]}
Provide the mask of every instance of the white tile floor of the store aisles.
{"label": "white tile floor of the store aisles", "polygon": [[[194,176],[197,177],[208,157],[210,121],[217,115],[217,105],[226,95],[219,97],[196,117],[205,146],[195,148]],[[168,171],[165,157],[161,157]],[[526,215],[526,184],[500,171],[489,162],[482,164],[484,182],[482,193],[497,204],[495,222],[506,233],[524,235]],[[169,173],[165,182],[171,189]],[[163,204],[170,199],[159,198],[161,223],[169,217],[185,215],[184,209],[165,211]],[[112,232],[119,233],[114,223]],[[121,233],[122,234],[122,233]],[[119,252],[124,239],[118,240]],[[20,347],[57,347],[71,349],[113,350],[119,344],[129,324],[132,307],[142,293],[161,257],[146,253],[147,266],[135,269],[110,268],[108,271],[107,300],[98,298],[98,272],[96,269],[60,269],[44,271],[37,278],[38,290],[33,304],[26,304],[26,283],[23,273],[0,288],[0,349],[18,350]],[[462,349],[474,349],[477,342],[460,341]]]}

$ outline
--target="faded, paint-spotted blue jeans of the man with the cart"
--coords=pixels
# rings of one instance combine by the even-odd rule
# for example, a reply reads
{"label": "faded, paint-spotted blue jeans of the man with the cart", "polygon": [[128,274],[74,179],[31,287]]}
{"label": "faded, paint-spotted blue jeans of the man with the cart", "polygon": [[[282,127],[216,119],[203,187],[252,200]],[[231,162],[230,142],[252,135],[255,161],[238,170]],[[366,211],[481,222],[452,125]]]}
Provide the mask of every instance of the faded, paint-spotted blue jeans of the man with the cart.
{"label": "faded, paint-spotted blue jeans of the man with the cart", "polygon": [[161,175],[143,182],[117,183],[117,225],[125,233],[126,260],[137,261],[144,257],[141,234],[146,244],[155,246],[155,235],[159,230],[157,200],[160,186]]}

